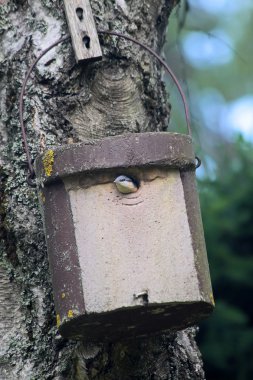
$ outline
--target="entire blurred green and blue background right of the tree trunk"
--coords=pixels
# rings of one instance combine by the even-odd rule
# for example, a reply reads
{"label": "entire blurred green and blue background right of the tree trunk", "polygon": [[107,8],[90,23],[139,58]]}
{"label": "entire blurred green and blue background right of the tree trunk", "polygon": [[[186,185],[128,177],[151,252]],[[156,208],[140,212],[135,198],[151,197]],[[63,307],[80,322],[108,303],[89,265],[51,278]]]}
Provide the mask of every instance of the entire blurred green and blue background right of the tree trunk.
{"label": "entire blurred green and blue background right of the tree trunk", "polygon": [[[186,92],[216,308],[200,325],[207,380],[253,379],[253,0],[188,0],[165,56]],[[183,106],[166,78],[172,118]]]}

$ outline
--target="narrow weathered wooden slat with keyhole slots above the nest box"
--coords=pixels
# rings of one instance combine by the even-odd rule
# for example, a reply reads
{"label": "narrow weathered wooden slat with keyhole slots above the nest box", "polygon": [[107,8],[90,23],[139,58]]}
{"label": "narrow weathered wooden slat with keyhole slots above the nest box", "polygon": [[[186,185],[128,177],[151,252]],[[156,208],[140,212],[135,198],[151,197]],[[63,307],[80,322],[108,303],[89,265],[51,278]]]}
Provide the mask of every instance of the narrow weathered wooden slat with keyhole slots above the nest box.
{"label": "narrow weathered wooden slat with keyhole slots above the nest box", "polygon": [[89,0],[64,0],[76,61],[97,61],[102,58],[96,25]]}

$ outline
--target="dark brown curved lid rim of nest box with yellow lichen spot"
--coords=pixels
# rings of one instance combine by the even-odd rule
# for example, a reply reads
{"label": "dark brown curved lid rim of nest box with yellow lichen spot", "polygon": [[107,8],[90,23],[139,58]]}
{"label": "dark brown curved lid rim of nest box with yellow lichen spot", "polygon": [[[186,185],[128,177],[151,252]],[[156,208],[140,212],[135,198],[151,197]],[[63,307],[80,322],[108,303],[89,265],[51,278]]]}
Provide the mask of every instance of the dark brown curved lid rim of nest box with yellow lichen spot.
{"label": "dark brown curved lid rim of nest box with yellow lichen spot", "polygon": [[[50,162],[45,159],[47,156]],[[148,132],[88,140],[49,149],[35,162],[38,181],[44,183],[97,170],[152,166],[195,169],[191,137]]]}

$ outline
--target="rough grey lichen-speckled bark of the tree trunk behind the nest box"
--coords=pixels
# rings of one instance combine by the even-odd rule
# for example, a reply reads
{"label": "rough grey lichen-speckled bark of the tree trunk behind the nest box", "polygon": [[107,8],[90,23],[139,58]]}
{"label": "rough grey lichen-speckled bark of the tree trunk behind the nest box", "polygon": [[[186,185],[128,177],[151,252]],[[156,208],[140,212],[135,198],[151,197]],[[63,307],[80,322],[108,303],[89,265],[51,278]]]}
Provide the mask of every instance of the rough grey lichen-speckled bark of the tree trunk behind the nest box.
{"label": "rough grey lichen-speckled bark of the tree trunk behind the nest box", "polygon": [[[177,0],[92,0],[97,25],[157,51]],[[52,289],[36,191],[18,122],[28,66],[67,33],[60,0],[0,1],[0,379],[204,379],[195,328],[94,346],[64,341]],[[101,39],[104,59],[76,65],[69,43],[38,64],[25,121],[33,157],[45,147],[125,132],[165,130],[169,106],[160,69],[138,47]]]}

